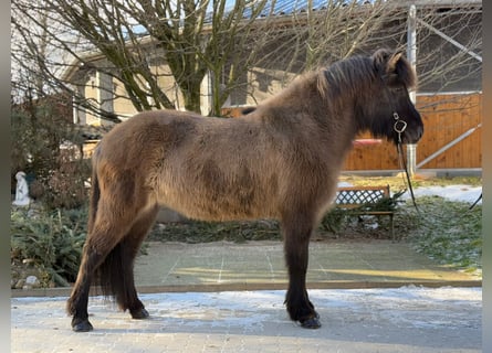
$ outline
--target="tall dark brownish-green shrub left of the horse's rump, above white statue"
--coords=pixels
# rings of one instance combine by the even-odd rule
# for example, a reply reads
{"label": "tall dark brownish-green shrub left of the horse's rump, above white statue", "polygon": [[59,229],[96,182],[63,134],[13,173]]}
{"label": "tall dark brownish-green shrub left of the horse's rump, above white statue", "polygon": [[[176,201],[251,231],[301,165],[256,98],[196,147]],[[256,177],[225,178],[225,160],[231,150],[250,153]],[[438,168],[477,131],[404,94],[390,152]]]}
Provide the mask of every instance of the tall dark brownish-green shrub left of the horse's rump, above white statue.
{"label": "tall dark brownish-green shrub left of the horse's rump, above white statue", "polygon": [[44,97],[11,107],[11,192],[27,174],[30,196],[51,210],[76,208],[87,199],[83,130],[74,125],[70,97]]}

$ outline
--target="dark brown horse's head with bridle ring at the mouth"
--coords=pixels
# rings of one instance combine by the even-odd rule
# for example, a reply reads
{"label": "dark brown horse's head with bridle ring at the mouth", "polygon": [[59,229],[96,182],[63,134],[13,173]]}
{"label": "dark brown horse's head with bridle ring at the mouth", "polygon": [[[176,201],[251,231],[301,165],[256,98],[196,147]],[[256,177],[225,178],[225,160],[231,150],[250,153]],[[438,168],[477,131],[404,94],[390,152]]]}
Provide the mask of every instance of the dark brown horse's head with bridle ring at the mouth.
{"label": "dark brown horse's head with bridle ring at the mouth", "polygon": [[416,143],[422,137],[423,124],[408,92],[416,86],[415,71],[400,52],[378,50],[371,58],[378,76],[376,85],[381,86],[376,89],[383,101],[374,101],[385,120],[380,121],[380,135],[395,143]]}

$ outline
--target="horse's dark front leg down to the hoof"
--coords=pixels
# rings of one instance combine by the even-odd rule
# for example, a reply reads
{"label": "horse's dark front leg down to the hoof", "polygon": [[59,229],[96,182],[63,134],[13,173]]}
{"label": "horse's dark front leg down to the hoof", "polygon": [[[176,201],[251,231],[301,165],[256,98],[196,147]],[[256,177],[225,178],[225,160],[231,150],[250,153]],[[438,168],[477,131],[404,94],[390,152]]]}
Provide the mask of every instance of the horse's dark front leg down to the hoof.
{"label": "horse's dark front leg down to the hoof", "polygon": [[303,328],[318,329],[320,315],[314,310],[306,290],[310,238],[313,225],[302,221],[283,223],[285,261],[289,270],[289,289],[285,297],[292,320]]}

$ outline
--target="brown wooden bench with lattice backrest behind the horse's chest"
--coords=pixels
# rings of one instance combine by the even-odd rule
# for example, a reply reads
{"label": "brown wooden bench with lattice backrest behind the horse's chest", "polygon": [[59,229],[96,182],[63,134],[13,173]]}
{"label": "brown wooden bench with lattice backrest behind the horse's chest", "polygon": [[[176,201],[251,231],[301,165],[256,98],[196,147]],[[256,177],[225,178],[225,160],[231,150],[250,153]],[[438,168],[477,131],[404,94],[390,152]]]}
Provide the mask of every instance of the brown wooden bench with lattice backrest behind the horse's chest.
{"label": "brown wooden bench with lattice backrest behind the horse's chest", "polygon": [[343,186],[336,191],[335,207],[349,211],[350,215],[389,216],[391,239],[395,240],[395,226],[389,185]]}

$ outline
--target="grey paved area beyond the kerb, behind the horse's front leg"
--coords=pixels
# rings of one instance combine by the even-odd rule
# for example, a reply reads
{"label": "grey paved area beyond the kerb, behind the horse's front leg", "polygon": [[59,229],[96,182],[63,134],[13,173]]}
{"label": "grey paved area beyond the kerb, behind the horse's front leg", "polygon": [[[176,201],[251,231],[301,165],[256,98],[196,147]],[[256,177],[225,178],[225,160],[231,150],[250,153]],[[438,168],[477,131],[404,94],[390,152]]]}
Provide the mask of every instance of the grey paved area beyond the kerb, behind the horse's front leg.
{"label": "grey paved area beyond the kerb, behind the horse's front leg", "polygon": [[[287,282],[281,242],[151,243],[147,253],[135,265],[140,288],[276,289]],[[311,288],[480,286],[477,277],[438,266],[408,244],[390,240],[312,242],[307,281]]]}

